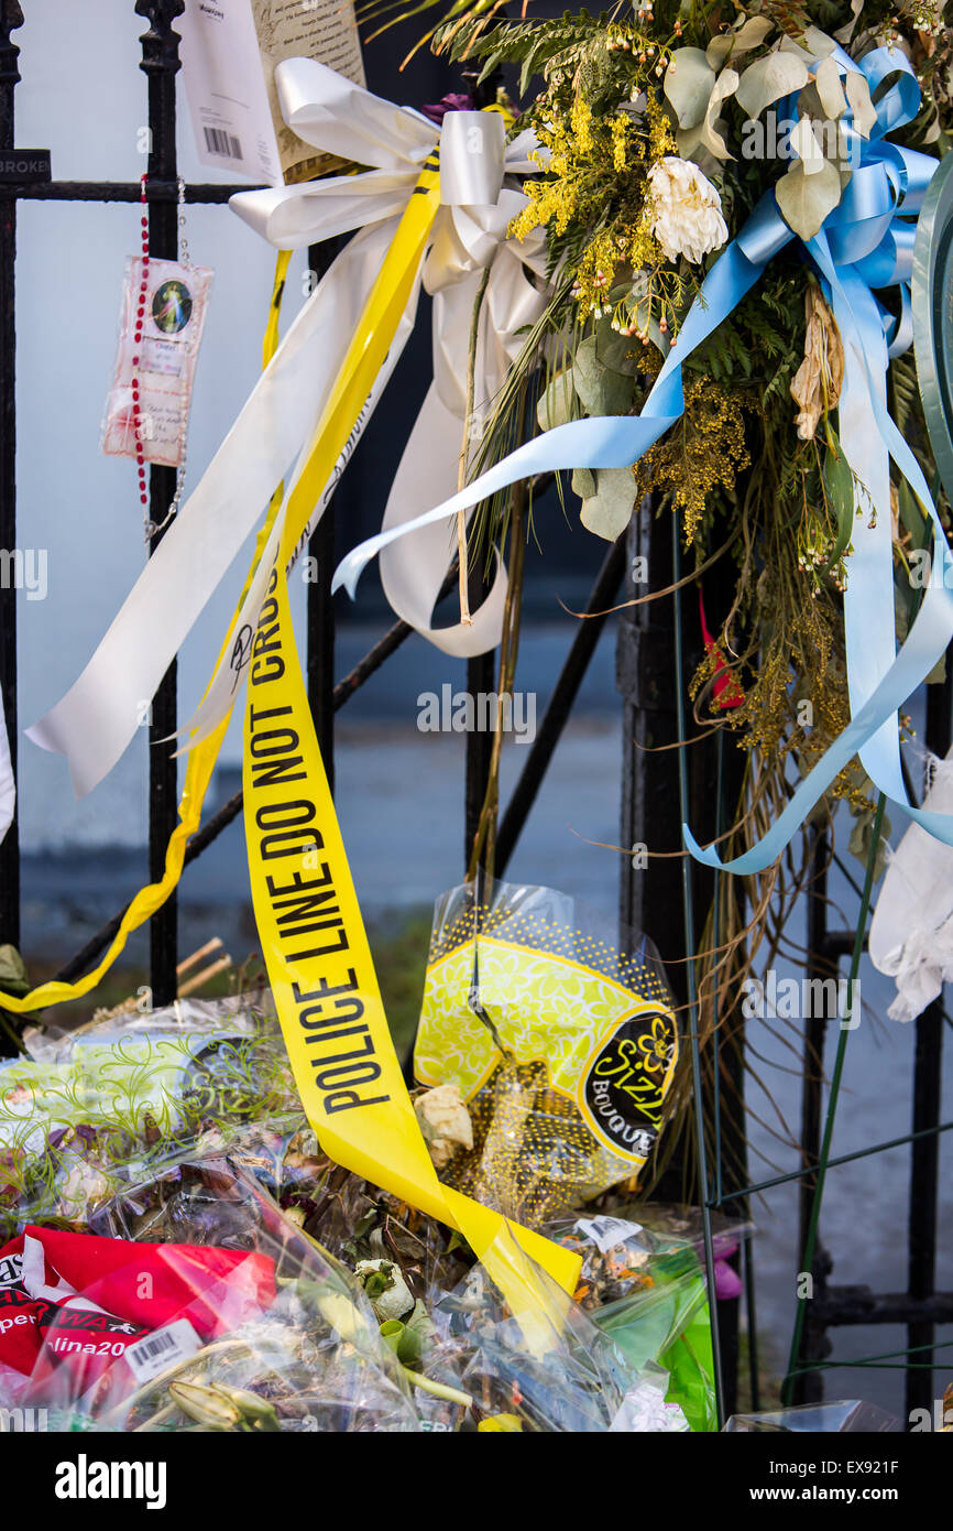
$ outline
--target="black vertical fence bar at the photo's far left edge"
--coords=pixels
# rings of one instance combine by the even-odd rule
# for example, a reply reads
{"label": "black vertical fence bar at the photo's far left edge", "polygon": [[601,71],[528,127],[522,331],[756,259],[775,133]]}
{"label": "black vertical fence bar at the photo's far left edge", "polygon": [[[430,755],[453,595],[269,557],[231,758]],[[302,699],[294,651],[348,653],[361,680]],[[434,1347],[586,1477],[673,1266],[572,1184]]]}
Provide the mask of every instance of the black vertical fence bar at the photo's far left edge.
{"label": "black vertical fence bar at the photo's far left edge", "polygon": [[[17,0],[0,0],[0,152],[14,147],[14,92],[20,80],[20,49],[11,32],[23,26]],[[0,204],[0,550],[8,554],[0,582],[0,689],[6,712],[14,775],[17,773],[17,202]],[[18,807],[18,805],[17,805]],[[0,942],[20,946],[20,825],[18,813],[0,844]]]}

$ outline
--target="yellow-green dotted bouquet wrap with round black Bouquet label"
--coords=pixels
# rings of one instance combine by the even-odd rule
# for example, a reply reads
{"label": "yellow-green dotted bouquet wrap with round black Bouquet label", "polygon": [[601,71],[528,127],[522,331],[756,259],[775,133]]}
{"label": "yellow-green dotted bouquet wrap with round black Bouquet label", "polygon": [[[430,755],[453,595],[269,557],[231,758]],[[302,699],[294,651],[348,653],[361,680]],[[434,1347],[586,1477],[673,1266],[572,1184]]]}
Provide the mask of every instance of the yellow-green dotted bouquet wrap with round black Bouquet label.
{"label": "yellow-green dotted bouquet wrap with round black Bouquet label", "polygon": [[437,900],[415,1049],[456,1085],[473,1148],[448,1183],[529,1226],[644,1165],[679,1038],[655,948],[551,888],[473,885]]}

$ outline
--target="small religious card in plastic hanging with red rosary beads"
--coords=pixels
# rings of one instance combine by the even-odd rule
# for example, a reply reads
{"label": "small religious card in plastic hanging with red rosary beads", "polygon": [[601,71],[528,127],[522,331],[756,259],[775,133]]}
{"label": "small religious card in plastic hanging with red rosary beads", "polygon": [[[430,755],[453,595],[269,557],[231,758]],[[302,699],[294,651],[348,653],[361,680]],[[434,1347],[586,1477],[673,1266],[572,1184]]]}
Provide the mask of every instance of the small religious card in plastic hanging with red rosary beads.
{"label": "small religious card in plastic hanging with red rosary beads", "polygon": [[162,467],[179,467],[211,282],[208,266],[151,259],[142,340],[136,346],[142,259],[127,259],[116,367],[102,421],[101,446],[107,456],[136,456],[135,380],[142,456]]}

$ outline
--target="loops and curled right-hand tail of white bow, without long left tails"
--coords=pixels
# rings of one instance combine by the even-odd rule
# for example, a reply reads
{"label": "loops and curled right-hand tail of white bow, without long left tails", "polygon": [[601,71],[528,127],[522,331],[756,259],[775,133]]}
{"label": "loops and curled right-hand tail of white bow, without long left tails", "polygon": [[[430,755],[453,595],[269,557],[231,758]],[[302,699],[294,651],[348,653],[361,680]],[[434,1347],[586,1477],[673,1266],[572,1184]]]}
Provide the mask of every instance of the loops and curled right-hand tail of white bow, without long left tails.
{"label": "loops and curled right-hand tail of white bow, without long left tails", "polygon": [[[298,250],[352,228],[385,224],[390,231],[413,194],[421,167],[441,145],[441,199],[422,283],[433,303],[433,384],[427,392],[384,510],[382,530],[404,525],[434,495],[457,488],[467,415],[467,364],[473,308],[490,271],[480,309],[474,367],[474,410],[467,449],[480,436],[486,409],[522,346],[520,332],[546,306],[542,234],[517,243],[511,220],[526,205],[514,176],[535,168],[534,133],[505,144],[496,112],[448,112],[436,127],[410,107],[363,90],[324,64],[292,58],[278,66],[278,95],[289,127],[324,153],[372,165],[356,176],[309,185],[242,191],[231,207],[281,250]],[[509,179],[508,179],[509,178]],[[416,289],[415,299],[416,303]],[[436,648],[470,658],[500,640],[506,577],[494,583],[473,623],[431,626],[447,574],[454,517],[392,544],[381,557],[381,583],[393,611]]]}

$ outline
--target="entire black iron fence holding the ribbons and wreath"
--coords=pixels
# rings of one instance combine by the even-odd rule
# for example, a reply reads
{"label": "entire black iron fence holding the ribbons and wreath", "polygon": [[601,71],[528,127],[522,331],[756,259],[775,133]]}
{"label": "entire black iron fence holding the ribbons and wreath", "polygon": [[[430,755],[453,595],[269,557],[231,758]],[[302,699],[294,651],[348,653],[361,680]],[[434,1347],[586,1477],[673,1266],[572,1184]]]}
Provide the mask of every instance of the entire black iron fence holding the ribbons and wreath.
{"label": "entire black iron fence holding the ribbons and wreath", "polygon": [[[150,248],[158,257],[176,257],[176,75],[179,70],[179,38],[174,23],[184,12],[184,0],[135,0],[135,12],[147,21],[142,34],[141,69],[147,78],[148,127],[151,130],[151,153],[148,158],[148,233]],[[0,0],[0,153],[15,147],[14,101],[20,83],[18,49],[14,32],[23,24],[23,11],[17,0]],[[451,84],[448,83],[448,87]],[[225,204],[233,191],[245,187],[187,185],[185,201],[190,204]],[[17,493],[15,493],[15,254],[17,254],[17,205],[26,199],[58,202],[135,202],[141,196],[139,182],[83,182],[83,181],[5,181],[0,184],[0,548],[17,547]],[[324,248],[312,250],[311,265],[323,269],[329,260]],[[174,470],[150,468],[150,516],[156,525],[165,519],[174,493]],[[162,531],[153,537],[151,550]],[[411,629],[395,623],[364,654],[353,669],[335,683],[335,612],[330,597],[330,574],[333,570],[333,507],[314,533],[309,553],[315,559],[317,579],[307,585],[307,645],[306,671],[307,694],[315,718],[318,741],[327,762],[333,785],[333,718],[355,692],[373,675],[395,651],[411,635]],[[555,683],[546,713],[537,729],[535,741],[528,750],[523,770],[502,814],[497,841],[497,876],[503,876],[512,850],[520,837],[526,818],[534,805],[549,761],[560,741],[574,701],[580,690],[589,660],[603,631],[606,608],[627,588],[626,573],[636,556],[649,557],[652,586],[659,589],[670,583],[673,553],[672,527],[656,519],[650,507],[633,519],[626,537],[610,547],[594,582],[587,602],[589,620],[581,620],[569,645],[563,669]],[[717,611],[717,586],[707,597]],[[17,761],[17,591],[12,582],[0,586],[0,686],[6,704],[6,726],[11,755]],[[685,739],[684,715],[679,695],[684,695],[685,675],[693,658],[701,651],[698,623],[688,603],[682,608],[678,597],[641,605],[623,612],[618,625],[618,686],[623,697],[623,804],[621,845],[647,844],[665,848],[661,859],[652,859],[649,868],[632,865],[627,856],[621,859],[621,922],[630,928],[649,932],[665,932],[662,955],[670,961],[670,974],[679,1003],[691,1017],[688,1035],[691,1041],[696,1082],[701,1085],[701,1055],[694,1030],[693,987],[690,965],[684,961],[701,934],[698,911],[711,900],[714,876],[687,865],[672,856],[681,845],[681,821],[685,810],[701,839],[711,839],[719,825],[730,818],[731,804],[737,801],[737,781],[725,759],[716,764],[717,744],[707,741],[691,750],[678,752]],[[494,690],[494,658],[486,655],[470,661],[468,686],[473,694]],[[150,781],[148,781],[148,877],[159,880],[165,862],[165,848],[176,825],[177,782],[173,746],[162,743],[177,727],[176,666],[162,680],[156,694],[150,726]],[[927,744],[936,753],[945,753],[950,741],[950,684],[930,687]],[[467,779],[463,802],[463,865],[470,857],[476,825],[483,804],[490,744],[485,733],[467,736]],[[659,749],[661,746],[661,749]],[[676,753],[664,746],[675,746]],[[687,759],[679,793],[679,769],[676,755]],[[736,752],[737,753],[737,752]],[[194,862],[213,841],[240,814],[242,793],[236,793],[193,836],[185,862]],[[851,951],[851,932],[828,929],[828,900],[825,871],[828,845],[818,837],[817,876],[809,893],[809,948],[811,974],[828,975],[831,963],[841,960]],[[188,873],[185,873],[188,876]],[[122,911],[99,929],[86,946],[67,961],[58,977],[73,980],[86,972],[116,934]],[[168,1003],[176,995],[177,963],[177,903],[170,897],[153,917],[150,926],[150,984],[156,1004]],[[685,937],[687,932],[687,937]],[[17,821],[11,825],[0,845],[0,942],[20,946],[20,841]],[[899,1294],[875,1294],[867,1288],[835,1286],[829,1281],[831,1257],[820,1245],[814,1262],[815,1295],[808,1304],[800,1355],[789,1378],[794,1396],[814,1399],[823,1392],[823,1367],[829,1352],[828,1330],[840,1324],[907,1326],[909,1352],[899,1363],[886,1358],[883,1364],[904,1364],[907,1372],[907,1407],[929,1407],[935,1382],[935,1326],[953,1321],[953,1292],[936,1291],[936,1205],[938,1205],[938,1142],[939,1133],[953,1127],[941,1122],[941,1049],[942,1030],[947,1024],[941,1003],[930,1006],[916,1023],[916,1047],[913,1063],[913,1107],[910,1133],[889,1144],[875,1144],[863,1153],[877,1153],[901,1144],[910,1145],[910,1199],[909,1199],[909,1283]],[[823,1020],[806,1020],[803,1036],[803,1105],[802,1105],[802,1165],[789,1174],[751,1183],[746,1168],[746,1142],[743,1128],[728,1116],[719,1118],[720,1092],[730,1082],[736,1098],[743,1092],[743,1030],[734,1026],[734,1044],[716,1056],[714,1099],[708,1102],[716,1115],[716,1162],[713,1174],[702,1164],[699,1183],[705,1240],[711,1249],[710,1214],[714,1208],[746,1214],[759,1191],[766,1191],[785,1180],[800,1180],[802,1185],[802,1237],[805,1248],[817,1164],[821,1148],[821,1115],[825,1099],[823,1079]],[[699,1089],[701,1095],[701,1089]],[[701,1101],[696,1121],[701,1124]],[[698,1133],[704,1142],[704,1133]],[[728,1138],[731,1141],[728,1142]],[[831,1159],[828,1168],[849,1162],[858,1154]],[[733,1167],[734,1185],[725,1185],[727,1171]],[[861,1229],[855,1234],[863,1237]],[[748,1329],[748,1382],[750,1402],[759,1404],[759,1355],[754,1309],[754,1271],[751,1254],[743,1254],[743,1278]],[[708,1260],[710,1271],[713,1268]],[[731,1412],[737,1399],[739,1373],[739,1303],[722,1301],[719,1307],[719,1330],[722,1352],[722,1409]],[[872,1358],[877,1363],[877,1358]]]}

